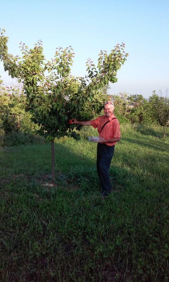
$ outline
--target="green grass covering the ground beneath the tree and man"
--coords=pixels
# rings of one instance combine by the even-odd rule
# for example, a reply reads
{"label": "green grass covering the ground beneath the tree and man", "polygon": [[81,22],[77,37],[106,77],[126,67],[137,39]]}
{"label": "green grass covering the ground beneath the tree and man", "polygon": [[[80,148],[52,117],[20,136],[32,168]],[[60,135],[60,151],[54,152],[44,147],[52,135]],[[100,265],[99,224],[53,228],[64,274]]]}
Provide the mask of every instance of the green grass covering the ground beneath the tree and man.
{"label": "green grass covering the ground beneath the tree and man", "polygon": [[0,149],[0,281],[169,281],[169,134],[123,125],[100,196],[96,131]]}

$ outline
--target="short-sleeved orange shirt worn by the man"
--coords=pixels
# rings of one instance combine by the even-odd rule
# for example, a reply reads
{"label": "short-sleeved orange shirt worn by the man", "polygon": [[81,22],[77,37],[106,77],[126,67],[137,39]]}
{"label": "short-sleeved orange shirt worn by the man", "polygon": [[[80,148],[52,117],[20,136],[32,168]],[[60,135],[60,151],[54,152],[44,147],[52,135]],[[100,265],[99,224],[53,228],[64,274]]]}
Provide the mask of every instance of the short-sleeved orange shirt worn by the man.
{"label": "short-sleeved orange shirt worn by the man", "polygon": [[[94,120],[91,120],[90,123],[94,128],[97,128],[97,131],[99,132],[100,137],[104,137],[105,139],[120,138],[121,137],[120,123],[119,123],[118,119],[115,118],[115,119],[112,120],[112,118],[115,118],[114,114],[110,118],[106,118],[106,116],[104,115],[104,116],[98,117]],[[110,120],[110,122],[107,123],[101,131],[101,128],[103,127],[103,125],[108,120]],[[106,144],[108,146],[113,146],[116,143],[117,142],[104,143],[104,144]]]}

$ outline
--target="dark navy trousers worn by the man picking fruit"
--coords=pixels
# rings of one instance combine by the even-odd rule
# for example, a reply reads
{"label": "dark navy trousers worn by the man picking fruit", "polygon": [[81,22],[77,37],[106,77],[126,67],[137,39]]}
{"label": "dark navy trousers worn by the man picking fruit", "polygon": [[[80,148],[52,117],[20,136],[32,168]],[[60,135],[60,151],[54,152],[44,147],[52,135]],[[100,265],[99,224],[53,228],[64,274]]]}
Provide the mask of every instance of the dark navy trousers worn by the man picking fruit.
{"label": "dark navy trousers worn by the man picking fruit", "polygon": [[110,191],[109,168],[113,158],[115,145],[97,144],[97,174],[100,180],[102,191]]}

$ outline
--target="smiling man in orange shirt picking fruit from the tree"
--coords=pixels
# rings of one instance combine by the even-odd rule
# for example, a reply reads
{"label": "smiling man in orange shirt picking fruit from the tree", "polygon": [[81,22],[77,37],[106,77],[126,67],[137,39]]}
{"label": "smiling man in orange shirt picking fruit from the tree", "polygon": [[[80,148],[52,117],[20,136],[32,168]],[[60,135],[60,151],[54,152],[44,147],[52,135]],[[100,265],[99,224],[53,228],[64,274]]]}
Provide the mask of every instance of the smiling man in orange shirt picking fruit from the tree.
{"label": "smiling man in orange shirt picking fruit from the tree", "polygon": [[73,123],[82,125],[92,125],[97,128],[100,140],[97,142],[97,174],[101,185],[101,195],[108,196],[111,192],[109,168],[111,159],[114,154],[115,144],[120,141],[120,123],[114,116],[114,103],[109,101],[104,103],[104,116],[100,116],[95,120],[77,121]]}

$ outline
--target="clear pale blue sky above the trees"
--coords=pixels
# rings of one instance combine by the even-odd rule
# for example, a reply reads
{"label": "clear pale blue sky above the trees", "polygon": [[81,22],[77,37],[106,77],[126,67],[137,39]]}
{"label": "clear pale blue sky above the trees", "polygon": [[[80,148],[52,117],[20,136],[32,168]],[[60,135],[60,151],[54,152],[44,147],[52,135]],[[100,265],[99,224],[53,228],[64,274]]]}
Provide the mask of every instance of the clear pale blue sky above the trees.
{"label": "clear pale blue sky above the trees", "polygon": [[[168,0],[1,0],[0,7],[0,28],[6,30],[13,55],[21,55],[20,41],[33,48],[41,39],[47,60],[54,58],[56,47],[71,45],[71,73],[84,77],[88,58],[97,65],[100,50],[110,53],[124,42],[129,57],[109,93],[126,91],[148,98],[154,90],[163,96],[169,90]],[[3,62],[0,76],[5,86],[13,83]]]}

